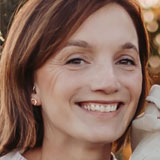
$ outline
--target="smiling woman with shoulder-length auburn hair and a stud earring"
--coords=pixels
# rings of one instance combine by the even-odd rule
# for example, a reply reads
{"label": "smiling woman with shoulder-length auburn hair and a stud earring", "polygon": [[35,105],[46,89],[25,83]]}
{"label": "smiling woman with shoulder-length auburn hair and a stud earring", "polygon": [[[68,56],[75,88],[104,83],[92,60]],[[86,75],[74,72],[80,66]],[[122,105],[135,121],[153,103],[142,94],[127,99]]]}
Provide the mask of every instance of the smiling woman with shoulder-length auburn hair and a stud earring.
{"label": "smiling woman with shoulder-length auburn hair and a stud earring", "polygon": [[147,58],[134,0],[28,1],[1,57],[1,159],[113,159],[143,106]]}

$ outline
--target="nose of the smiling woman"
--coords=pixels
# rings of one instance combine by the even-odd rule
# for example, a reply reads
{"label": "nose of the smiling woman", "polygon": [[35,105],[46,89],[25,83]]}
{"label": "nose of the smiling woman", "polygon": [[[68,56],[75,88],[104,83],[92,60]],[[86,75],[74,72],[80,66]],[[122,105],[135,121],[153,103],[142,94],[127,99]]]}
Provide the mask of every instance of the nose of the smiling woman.
{"label": "nose of the smiling woman", "polygon": [[105,94],[118,92],[121,85],[114,67],[99,65],[95,68],[90,80],[91,90]]}

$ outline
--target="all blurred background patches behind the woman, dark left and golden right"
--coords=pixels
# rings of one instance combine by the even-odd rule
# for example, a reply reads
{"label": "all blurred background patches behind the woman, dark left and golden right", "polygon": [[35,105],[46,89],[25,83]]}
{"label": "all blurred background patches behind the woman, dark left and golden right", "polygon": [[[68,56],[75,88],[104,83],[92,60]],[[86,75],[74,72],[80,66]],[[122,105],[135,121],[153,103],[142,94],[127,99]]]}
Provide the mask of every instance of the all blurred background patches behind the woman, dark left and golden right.
{"label": "all blurred background patches behind the woman, dark left and golden right", "polygon": [[[0,0],[0,53],[18,4],[26,0]],[[152,84],[160,84],[160,0],[138,0],[150,36],[151,53],[148,63]],[[119,160],[128,160],[130,144],[117,154]]]}

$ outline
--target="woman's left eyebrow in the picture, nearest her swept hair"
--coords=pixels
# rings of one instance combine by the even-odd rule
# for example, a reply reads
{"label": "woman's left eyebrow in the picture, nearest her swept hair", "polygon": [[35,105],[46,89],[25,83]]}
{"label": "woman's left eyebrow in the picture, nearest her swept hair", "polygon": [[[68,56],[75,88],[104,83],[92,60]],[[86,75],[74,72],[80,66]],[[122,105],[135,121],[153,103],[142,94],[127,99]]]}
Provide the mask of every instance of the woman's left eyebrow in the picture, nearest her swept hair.
{"label": "woman's left eyebrow in the picture, nearest her swept hair", "polygon": [[70,47],[70,46],[87,48],[87,49],[92,48],[89,43],[87,43],[86,41],[82,41],[82,40],[71,40],[67,42],[67,44],[65,45],[65,47]]}

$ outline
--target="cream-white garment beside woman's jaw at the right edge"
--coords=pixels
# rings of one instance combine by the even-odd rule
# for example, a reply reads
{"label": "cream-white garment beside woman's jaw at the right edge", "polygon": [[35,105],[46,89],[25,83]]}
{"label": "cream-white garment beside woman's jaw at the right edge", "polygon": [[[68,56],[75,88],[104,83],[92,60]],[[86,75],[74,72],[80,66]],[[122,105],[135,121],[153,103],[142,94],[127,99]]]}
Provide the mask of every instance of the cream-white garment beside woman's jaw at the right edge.
{"label": "cream-white garment beside woman's jaw at the right edge", "polygon": [[130,160],[160,160],[160,85],[154,85],[146,99],[144,114],[132,123]]}

